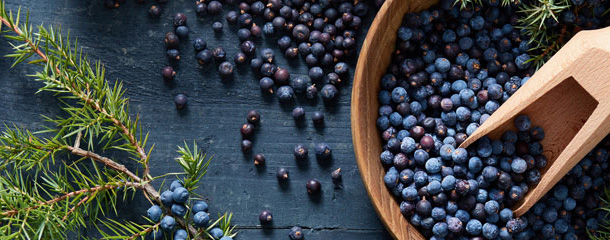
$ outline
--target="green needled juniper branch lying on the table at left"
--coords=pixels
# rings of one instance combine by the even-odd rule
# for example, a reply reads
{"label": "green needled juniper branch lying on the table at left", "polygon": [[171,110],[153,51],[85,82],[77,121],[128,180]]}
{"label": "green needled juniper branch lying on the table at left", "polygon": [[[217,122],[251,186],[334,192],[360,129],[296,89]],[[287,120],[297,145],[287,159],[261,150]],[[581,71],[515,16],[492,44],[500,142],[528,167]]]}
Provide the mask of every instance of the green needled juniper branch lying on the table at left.
{"label": "green needled juniper branch lying on the table at left", "polygon": [[[74,230],[74,226],[68,227],[69,225],[63,223],[68,220],[66,216],[70,214],[78,213],[77,217],[70,221],[78,222],[79,225],[84,226],[83,214],[88,214],[94,222],[98,221],[100,219],[97,218],[97,215],[102,209],[102,205],[109,204],[116,211],[116,191],[114,190],[118,187],[105,188],[103,186],[117,186],[115,183],[118,180],[139,184],[137,189],[142,190],[149,201],[161,204],[159,193],[150,184],[153,179],[149,176],[149,155],[145,150],[148,134],[137,134],[138,130],[141,132],[138,125],[139,118],[137,116],[135,119],[129,117],[128,99],[123,97],[125,91],[122,89],[122,84],[117,82],[114,86],[111,86],[105,79],[102,64],[98,61],[92,66],[87,58],[83,57],[82,51],[76,44],[70,42],[69,37],[63,38],[60,30],[54,30],[53,28],[47,30],[39,26],[37,28],[38,32],[34,33],[27,20],[25,24],[19,23],[20,16],[20,11],[17,12],[16,17],[7,12],[4,1],[0,1],[0,28],[2,26],[8,27],[8,30],[3,31],[6,38],[22,42],[22,44],[16,45],[11,43],[14,53],[6,56],[15,59],[14,65],[29,60],[32,56],[38,56],[37,59],[29,60],[28,63],[43,68],[41,72],[32,75],[44,84],[39,92],[58,93],[60,100],[76,100],[80,107],[62,100],[65,105],[62,109],[68,113],[69,117],[65,119],[46,117],[46,120],[55,124],[56,128],[47,128],[40,133],[55,133],[56,135],[52,138],[40,139],[29,131],[22,132],[17,129],[8,129],[3,136],[0,136],[0,157],[6,159],[6,161],[1,162],[0,169],[8,170],[12,168],[12,170],[19,172],[14,178],[11,178],[10,174],[6,177],[0,175],[0,181],[13,188],[7,190],[8,192],[4,195],[0,194],[0,197],[5,198],[0,199],[0,201],[4,200],[0,203],[2,203],[2,206],[20,206],[20,203],[29,199],[27,201],[30,203],[40,205],[39,207],[20,207],[19,210],[24,211],[25,216],[19,216],[20,212],[17,212],[17,215],[9,212],[5,216],[9,217],[10,222],[14,221],[20,224],[16,227],[18,232],[12,233],[12,224],[9,224],[10,226],[0,226],[0,231],[7,233],[7,235],[27,239],[32,238],[28,233],[36,233],[37,238],[49,236],[51,238],[61,238],[66,229]],[[68,141],[74,135],[76,135],[76,140],[73,144],[70,144]],[[117,135],[119,137],[116,137]],[[88,143],[87,149],[80,148],[81,139]],[[113,148],[132,153],[136,161],[142,164],[143,175],[138,176],[117,161],[92,151],[94,140],[105,142],[105,145],[102,144],[104,149]],[[121,144],[120,141],[125,143]],[[94,162],[93,171],[79,169],[78,163],[81,160],[73,163],[62,161],[64,172],[49,170],[48,166],[55,163],[55,155],[61,150],[67,150],[80,156],[81,159],[91,159]],[[150,150],[152,150],[152,147],[148,151],[150,152]],[[205,174],[209,159],[205,161],[205,155],[198,152],[196,145],[194,152],[185,147],[180,149],[180,154],[182,156],[177,160],[185,170],[185,175],[187,175],[185,180],[188,180],[191,187],[195,186]],[[46,168],[44,167],[45,164]],[[96,164],[105,168],[100,170]],[[117,173],[111,173],[106,168]],[[30,184],[30,181],[23,179],[22,170],[34,170],[33,183]],[[68,177],[75,180],[69,180]],[[38,179],[44,181],[44,186],[37,182]],[[72,186],[73,184],[77,185],[76,189]],[[18,197],[10,194],[11,191],[18,193]],[[103,195],[104,191],[108,191],[107,197],[99,197],[99,195]],[[64,193],[61,195],[64,197],[60,196],[46,201],[42,197],[43,195],[54,196],[56,193]],[[73,200],[69,201],[69,199]],[[90,203],[92,201],[96,202]],[[49,203],[44,204],[47,202]],[[59,203],[64,205],[66,212],[54,215],[51,211],[48,213],[37,211],[38,208]],[[83,212],[80,212],[80,208],[83,208]],[[35,219],[31,219],[31,214]],[[13,218],[13,216],[18,216],[18,218]],[[225,221],[223,222],[225,232],[234,235],[232,233],[233,228],[229,224],[230,216],[227,218],[225,214],[221,219]],[[34,229],[29,220],[39,222],[40,224],[36,226],[38,229]],[[187,228],[194,239],[202,238],[197,230],[185,220],[177,218],[176,221],[182,227]],[[46,226],[48,223],[55,224],[49,227]],[[136,223],[120,224],[112,219],[108,222],[102,221],[102,223],[113,228],[117,234],[119,234],[119,231],[116,231],[116,229],[119,228],[128,229],[126,232],[132,232],[133,229],[145,227]],[[52,228],[52,230],[47,230],[49,228]]]}

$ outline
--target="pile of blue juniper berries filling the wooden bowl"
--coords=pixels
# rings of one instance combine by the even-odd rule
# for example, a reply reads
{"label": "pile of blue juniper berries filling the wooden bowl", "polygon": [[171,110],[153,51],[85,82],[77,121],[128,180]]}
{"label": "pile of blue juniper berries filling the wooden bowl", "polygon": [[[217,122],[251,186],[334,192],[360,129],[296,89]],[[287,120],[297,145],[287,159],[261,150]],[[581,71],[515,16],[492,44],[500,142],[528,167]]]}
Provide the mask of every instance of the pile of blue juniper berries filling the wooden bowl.
{"label": "pile of blue juniper berries filling the wooden bowl", "polygon": [[523,217],[510,208],[547,166],[544,130],[520,115],[517,131],[458,148],[534,72],[517,7],[499,3],[405,15],[379,92],[383,181],[430,239],[587,238],[607,219],[595,208],[608,140]]}

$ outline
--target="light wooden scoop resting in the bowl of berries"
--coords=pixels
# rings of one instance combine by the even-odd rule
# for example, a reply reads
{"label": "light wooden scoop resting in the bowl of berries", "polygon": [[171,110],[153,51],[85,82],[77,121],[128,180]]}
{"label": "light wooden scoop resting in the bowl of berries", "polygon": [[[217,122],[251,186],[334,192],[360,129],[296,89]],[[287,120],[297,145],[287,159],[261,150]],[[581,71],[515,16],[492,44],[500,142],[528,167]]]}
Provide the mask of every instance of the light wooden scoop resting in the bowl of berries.
{"label": "light wooden scoop resting in the bowl of berries", "polygon": [[577,33],[460,147],[515,130],[520,114],[544,129],[548,165],[513,209],[518,216],[610,133],[610,27]]}

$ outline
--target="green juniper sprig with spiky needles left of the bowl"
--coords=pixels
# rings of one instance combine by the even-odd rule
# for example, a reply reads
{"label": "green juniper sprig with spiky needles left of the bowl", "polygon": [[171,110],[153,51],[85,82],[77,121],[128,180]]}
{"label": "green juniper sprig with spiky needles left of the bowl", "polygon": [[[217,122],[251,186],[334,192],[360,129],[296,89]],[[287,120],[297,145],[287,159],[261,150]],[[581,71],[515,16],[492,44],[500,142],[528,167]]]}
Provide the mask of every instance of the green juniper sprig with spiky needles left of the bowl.
{"label": "green juniper sprig with spiky needles left of the bowl", "polygon": [[[25,18],[25,21],[22,21]],[[77,41],[61,28],[32,26],[21,9],[13,14],[0,1],[1,34],[10,40],[7,57],[36,65],[31,74],[41,83],[38,92],[51,92],[61,101],[63,116],[45,116],[44,129],[32,132],[5,126],[0,134],[0,235],[10,239],[65,239],[70,232],[95,225],[106,239],[143,239],[159,228],[113,219],[119,201],[141,193],[161,205],[152,185],[164,176],[150,175],[148,133],[139,116],[129,114],[129,99],[121,82],[109,82],[101,61],[90,61]],[[99,149],[96,149],[98,147]],[[126,152],[129,160],[102,156],[106,150]],[[179,147],[177,163],[189,190],[207,171],[210,158],[196,144]],[[130,170],[121,162],[140,165]],[[121,199],[122,197],[122,199]],[[188,215],[187,215],[188,216]],[[219,216],[212,226],[234,236],[231,214]],[[205,229],[189,218],[176,218],[191,239],[208,239]],[[140,221],[141,222],[141,221]]]}

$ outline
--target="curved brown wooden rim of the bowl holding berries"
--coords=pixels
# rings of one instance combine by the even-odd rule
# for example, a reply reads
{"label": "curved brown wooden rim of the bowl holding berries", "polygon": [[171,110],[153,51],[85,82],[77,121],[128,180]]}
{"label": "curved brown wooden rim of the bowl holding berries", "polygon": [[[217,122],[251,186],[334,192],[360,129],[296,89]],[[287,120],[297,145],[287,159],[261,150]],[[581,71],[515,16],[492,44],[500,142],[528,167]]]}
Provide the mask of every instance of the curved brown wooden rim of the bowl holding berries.
{"label": "curved brown wooden rim of the bowl holding berries", "polygon": [[437,0],[386,0],[364,40],[354,74],[351,120],[352,139],[360,175],[375,211],[395,239],[424,239],[400,213],[399,204],[383,183],[379,160],[381,137],[377,130],[380,80],[396,47],[396,32],[407,12],[418,12]]}

